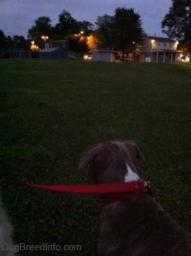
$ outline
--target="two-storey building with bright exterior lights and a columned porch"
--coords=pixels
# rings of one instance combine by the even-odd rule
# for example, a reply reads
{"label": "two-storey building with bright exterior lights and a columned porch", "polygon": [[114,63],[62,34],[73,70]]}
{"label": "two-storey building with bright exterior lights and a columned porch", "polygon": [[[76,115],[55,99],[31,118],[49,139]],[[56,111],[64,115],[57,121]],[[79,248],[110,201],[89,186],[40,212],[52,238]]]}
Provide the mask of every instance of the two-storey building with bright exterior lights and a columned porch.
{"label": "two-storey building with bright exterior lights and a columned porch", "polygon": [[161,63],[175,62],[181,53],[177,50],[178,41],[169,38],[148,36],[143,40],[140,61]]}

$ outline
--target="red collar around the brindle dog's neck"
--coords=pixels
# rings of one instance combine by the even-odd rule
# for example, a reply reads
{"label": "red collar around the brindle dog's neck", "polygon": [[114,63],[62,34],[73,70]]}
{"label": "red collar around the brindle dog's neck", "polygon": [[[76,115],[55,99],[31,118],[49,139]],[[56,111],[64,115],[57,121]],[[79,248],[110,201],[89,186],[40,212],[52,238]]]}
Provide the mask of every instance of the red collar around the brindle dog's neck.
{"label": "red collar around the brindle dog's neck", "polygon": [[[153,197],[153,190],[151,187],[150,182],[146,181],[134,181],[134,188],[131,186],[127,192],[123,193],[106,193],[102,196],[103,204],[113,204],[114,202],[118,202],[120,200],[128,199],[131,197],[135,197],[136,195],[141,195],[143,193],[150,195],[150,197]],[[143,187],[144,184],[144,187]]]}

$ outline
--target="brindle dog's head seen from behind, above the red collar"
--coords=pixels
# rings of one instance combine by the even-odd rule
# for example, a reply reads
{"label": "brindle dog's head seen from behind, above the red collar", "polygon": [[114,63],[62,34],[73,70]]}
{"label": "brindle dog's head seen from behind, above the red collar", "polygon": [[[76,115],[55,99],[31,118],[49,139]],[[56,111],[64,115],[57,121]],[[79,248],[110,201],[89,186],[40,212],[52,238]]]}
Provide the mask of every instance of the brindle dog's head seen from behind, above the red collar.
{"label": "brindle dog's head seen from behind, above the red collar", "polygon": [[95,183],[122,183],[138,180],[133,161],[144,156],[132,141],[111,141],[88,147],[81,156],[78,169],[90,171]]}

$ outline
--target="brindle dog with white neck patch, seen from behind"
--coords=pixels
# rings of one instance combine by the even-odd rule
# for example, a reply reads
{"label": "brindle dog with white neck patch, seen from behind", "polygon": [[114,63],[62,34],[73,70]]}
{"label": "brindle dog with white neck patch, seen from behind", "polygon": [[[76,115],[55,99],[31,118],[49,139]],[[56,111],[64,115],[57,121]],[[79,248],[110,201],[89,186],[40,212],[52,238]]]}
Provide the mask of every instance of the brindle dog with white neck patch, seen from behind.
{"label": "brindle dog with white neck patch, seen from behind", "polygon": [[[97,184],[139,181],[136,158],[143,160],[143,155],[134,142],[104,142],[83,153],[79,169],[89,170]],[[101,211],[99,256],[190,256],[190,250],[190,234],[146,193]]]}

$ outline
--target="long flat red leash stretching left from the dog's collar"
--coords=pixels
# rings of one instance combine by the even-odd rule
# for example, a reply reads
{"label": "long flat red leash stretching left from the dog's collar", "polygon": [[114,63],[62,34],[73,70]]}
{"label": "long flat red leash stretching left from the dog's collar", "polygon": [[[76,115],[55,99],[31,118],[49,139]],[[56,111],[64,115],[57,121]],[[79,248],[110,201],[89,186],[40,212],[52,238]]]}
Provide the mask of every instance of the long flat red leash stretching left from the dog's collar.
{"label": "long flat red leash stretching left from the dog's collar", "polygon": [[44,185],[29,184],[19,181],[9,181],[0,179],[0,183],[15,184],[18,186],[28,186],[43,190],[69,193],[124,193],[124,192],[146,192],[147,183],[145,181],[132,181],[128,183],[93,184],[93,185]]}

